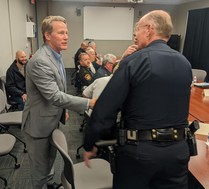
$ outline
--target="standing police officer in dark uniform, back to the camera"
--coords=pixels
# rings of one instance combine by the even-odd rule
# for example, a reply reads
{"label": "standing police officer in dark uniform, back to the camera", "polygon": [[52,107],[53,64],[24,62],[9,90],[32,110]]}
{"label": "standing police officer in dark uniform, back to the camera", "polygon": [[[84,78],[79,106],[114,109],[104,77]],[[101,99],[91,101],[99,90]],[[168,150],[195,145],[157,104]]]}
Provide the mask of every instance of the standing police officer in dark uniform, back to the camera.
{"label": "standing police officer in dark uniform, back to the camera", "polygon": [[162,10],[138,21],[134,41],[140,50],[120,62],[91,115],[84,141],[89,167],[95,142],[121,110],[113,189],[188,188],[184,129],[192,71],[189,61],[167,45],[172,27]]}

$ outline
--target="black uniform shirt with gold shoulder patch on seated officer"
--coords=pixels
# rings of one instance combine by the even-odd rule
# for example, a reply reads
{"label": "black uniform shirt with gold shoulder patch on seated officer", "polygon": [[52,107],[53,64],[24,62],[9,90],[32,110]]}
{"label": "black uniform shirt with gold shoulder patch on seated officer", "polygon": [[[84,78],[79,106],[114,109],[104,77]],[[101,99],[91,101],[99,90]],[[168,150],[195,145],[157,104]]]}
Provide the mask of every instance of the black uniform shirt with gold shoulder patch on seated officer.
{"label": "black uniform shirt with gold shoulder patch on seated officer", "polygon": [[90,68],[81,66],[78,75],[82,86],[89,86],[94,81],[94,73]]}

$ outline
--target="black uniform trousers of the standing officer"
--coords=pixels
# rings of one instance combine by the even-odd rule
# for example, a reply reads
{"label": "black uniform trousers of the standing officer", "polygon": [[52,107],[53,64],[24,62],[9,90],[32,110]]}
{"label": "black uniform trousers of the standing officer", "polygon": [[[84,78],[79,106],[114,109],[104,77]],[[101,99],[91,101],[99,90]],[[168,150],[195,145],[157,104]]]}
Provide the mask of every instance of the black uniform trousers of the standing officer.
{"label": "black uniform trousers of the standing officer", "polygon": [[189,158],[184,140],[119,146],[113,189],[188,189]]}

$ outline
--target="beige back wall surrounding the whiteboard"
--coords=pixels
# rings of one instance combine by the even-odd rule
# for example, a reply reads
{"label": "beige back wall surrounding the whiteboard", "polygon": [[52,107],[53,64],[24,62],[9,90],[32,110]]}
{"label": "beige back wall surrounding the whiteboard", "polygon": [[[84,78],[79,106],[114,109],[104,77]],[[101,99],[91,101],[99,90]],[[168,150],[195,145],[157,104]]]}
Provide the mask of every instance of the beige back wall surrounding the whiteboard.
{"label": "beige back wall surrounding the whiteboard", "polygon": [[[130,6],[130,4],[103,4],[103,3],[79,3],[79,2],[66,2],[66,1],[39,1],[37,5],[38,10],[38,23],[39,27],[44,17],[48,15],[61,15],[67,19],[68,29],[69,29],[69,41],[68,49],[63,51],[63,61],[66,68],[74,68],[73,57],[77,49],[80,47],[83,41],[83,7],[84,6]],[[171,13],[172,16],[176,14],[176,6],[173,5],[144,5],[144,4],[133,4],[134,13],[134,23],[138,19],[146,14],[147,12],[154,9],[164,9]],[[79,11],[78,11],[79,10]],[[79,12],[79,14],[78,14]],[[176,20],[174,19],[174,25],[176,25]],[[121,21],[122,24],[122,21]],[[94,28],[92,27],[92,32]],[[106,27],[109,27],[106,25]],[[176,33],[176,31],[174,31]],[[120,33],[118,33],[120,35]],[[39,28],[39,39],[40,43],[43,43],[41,31]],[[99,54],[112,53],[120,57],[124,50],[133,43],[132,40],[95,40],[97,44],[97,52]]]}

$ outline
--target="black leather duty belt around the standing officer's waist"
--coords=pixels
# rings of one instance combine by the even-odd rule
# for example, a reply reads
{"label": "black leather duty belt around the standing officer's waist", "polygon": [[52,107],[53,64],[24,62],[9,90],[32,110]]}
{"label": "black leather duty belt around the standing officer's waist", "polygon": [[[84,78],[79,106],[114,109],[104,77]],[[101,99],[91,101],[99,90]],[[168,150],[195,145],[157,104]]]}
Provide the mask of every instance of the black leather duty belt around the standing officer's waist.
{"label": "black leather duty belt around the standing officer's waist", "polygon": [[126,130],[126,142],[136,143],[138,141],[172,142],[185,139],[184,128],[166,128],[151,130]]}

